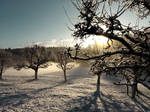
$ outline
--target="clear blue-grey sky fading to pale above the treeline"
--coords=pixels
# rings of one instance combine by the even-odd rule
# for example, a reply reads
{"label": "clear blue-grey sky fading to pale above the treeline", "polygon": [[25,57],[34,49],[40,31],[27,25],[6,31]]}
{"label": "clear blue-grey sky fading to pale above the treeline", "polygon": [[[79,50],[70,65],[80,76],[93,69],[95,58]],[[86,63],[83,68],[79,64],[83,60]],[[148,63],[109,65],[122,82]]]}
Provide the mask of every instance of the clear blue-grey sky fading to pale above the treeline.
{"label": "clear blue-grey sky fading to pale above the treeline", "polygon": [[[55,45],[60,40],[71,44],[68,29],[79,15],[70,0],[0,0],[0,48],[25,47],[33,43]],[[133,15],[125,14],[123,22]],[[145,23],[147,24],[147,23]]]}

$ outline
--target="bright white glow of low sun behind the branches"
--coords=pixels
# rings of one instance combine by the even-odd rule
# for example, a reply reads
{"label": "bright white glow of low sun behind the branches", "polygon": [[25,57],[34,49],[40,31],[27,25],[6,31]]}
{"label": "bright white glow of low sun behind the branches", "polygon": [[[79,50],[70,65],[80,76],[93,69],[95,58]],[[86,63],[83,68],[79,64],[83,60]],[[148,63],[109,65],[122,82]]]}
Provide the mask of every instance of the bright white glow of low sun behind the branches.
{"label": "bright white glow of low sun behind the branches", "polygon": [[83,47],[88,47],[88,46],[93,46],[93,45],[98,45],[100,47],[106,46],[108,42],[108,38],[104,36],[90,36],[87,38],[84,43]]}

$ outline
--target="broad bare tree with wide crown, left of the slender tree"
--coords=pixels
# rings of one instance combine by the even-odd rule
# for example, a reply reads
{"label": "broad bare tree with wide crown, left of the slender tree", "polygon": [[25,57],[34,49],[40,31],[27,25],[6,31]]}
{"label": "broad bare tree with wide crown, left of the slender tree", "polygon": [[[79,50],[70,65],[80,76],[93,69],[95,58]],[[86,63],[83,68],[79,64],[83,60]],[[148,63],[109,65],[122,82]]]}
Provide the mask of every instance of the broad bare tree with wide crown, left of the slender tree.
{"label": "broad bare tree with wide crown, left of the slender tree", "polygon": [[38,69],[47,68],[49,61],[49,53],[47,49],[42,46],[34,45],[33,47],[27,47],[24,50],[24,60],[21,64],[18,64],[15,68],[20,70],[22,68],[32,69],[35,72],[35,80],[38,79]]}

